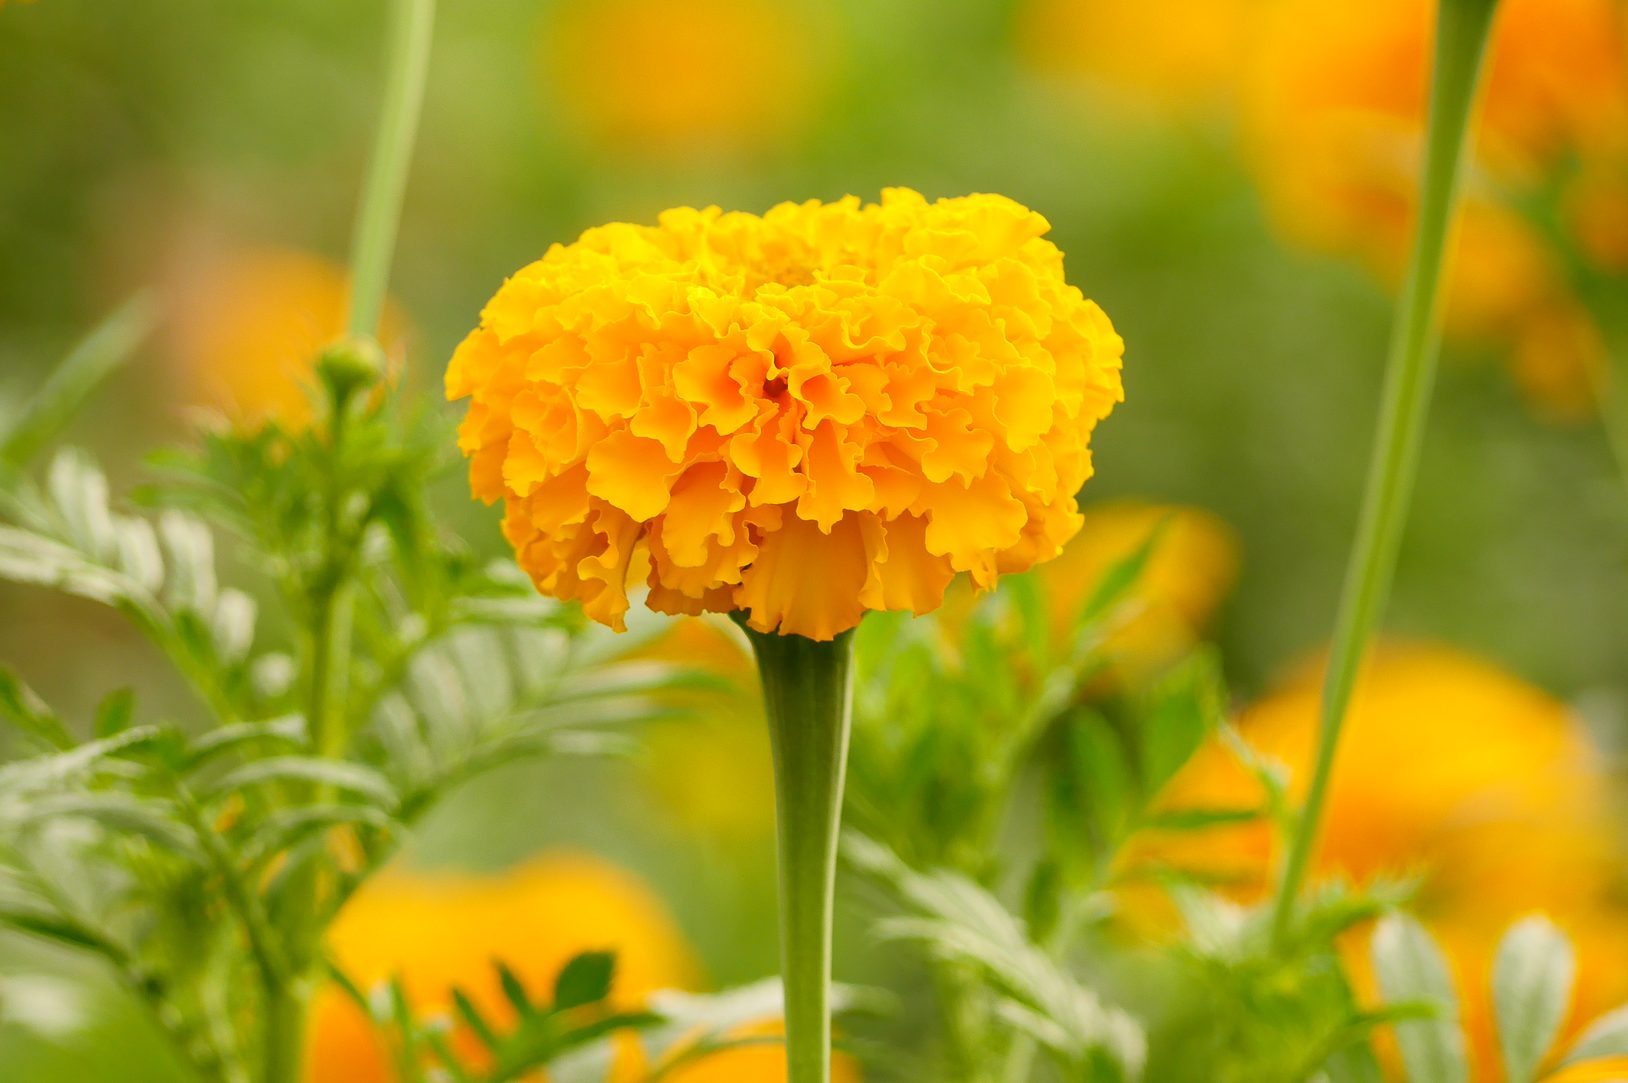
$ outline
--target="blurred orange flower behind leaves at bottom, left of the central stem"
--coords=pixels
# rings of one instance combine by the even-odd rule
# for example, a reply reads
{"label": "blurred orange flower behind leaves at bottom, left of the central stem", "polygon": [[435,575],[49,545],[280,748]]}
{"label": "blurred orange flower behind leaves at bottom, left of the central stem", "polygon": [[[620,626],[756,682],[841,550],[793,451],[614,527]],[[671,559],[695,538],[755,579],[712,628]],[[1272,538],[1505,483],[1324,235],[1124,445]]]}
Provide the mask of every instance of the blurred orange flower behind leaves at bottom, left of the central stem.
{"label": "blurred orange flower behind leaves at bottom, left of the central stem", "polygon": [[[386,873],[345,907],[329,930],[329,951],[361,989],[399,976],[422,1015],[451,1011],[453,987],[493,1019],[510,1018],[492,962],[501,959],[540,995],[583,951],[617,954],[612,1000],[641,1003],[663,989],[689,989],[697,962],[671,915],[628,873],[586,855],[536,858],[495,876]],[[778,1021],[737,1036],[777,1034]],[[459,1046],[472,1049],[472,1046]],[[650,1059],[633,1037],[617,1042],[610,1083],[646,1078]],[[663,1078],[682,1083],[783,1083],[780,1046],[708,1055]],[[373,1024],[339,990],[313,1006],[306,1083],[392,1083],[389,1052]],[[834,1080],[856,1083],[845,1059]]]}

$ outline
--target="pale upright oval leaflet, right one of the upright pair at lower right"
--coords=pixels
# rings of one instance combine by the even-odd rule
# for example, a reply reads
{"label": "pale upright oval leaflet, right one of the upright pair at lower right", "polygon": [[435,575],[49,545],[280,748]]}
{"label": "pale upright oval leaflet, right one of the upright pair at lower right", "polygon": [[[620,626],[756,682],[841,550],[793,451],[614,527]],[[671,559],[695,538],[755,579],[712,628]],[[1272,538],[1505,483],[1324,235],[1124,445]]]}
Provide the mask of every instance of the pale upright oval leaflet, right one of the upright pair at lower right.
{"label": "pale upright oval leaflet, right one of the upright pair at lower right", "polygon": [[1543,917],[1516,923],[1499,943],[1493,962],[1493,1006],[1509,1083],[1537,1078],[1566,1019],[1574,974],[1571,943]]}

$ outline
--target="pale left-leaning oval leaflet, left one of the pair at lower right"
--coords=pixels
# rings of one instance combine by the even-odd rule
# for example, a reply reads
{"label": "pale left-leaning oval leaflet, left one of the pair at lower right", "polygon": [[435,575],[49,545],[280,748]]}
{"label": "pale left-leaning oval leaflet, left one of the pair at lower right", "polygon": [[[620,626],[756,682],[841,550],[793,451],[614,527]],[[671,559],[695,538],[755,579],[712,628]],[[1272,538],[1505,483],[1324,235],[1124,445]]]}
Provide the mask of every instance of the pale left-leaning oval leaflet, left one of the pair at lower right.
{"label": "pale left-leaning oval leaflet, left one of the pair at lower right", "polygon": [[1465,1083],[1470,1070],[1459,1029],[1459,1000],[1441,948],[1418,922],[1390,914],[1374,930],[1371,949],[1387,1003],[1424,1002],[1441,1013],[1436,1019],[1395,1024],[1411,1083]]}

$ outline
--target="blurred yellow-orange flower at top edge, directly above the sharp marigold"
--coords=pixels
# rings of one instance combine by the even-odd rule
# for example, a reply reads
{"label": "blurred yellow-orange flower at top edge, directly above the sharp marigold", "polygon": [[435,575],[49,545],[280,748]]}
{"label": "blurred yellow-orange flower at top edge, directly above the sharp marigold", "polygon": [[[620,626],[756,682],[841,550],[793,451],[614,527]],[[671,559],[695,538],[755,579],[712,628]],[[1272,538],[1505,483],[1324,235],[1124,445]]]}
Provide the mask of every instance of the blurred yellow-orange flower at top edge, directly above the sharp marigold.
{"label": "blurred yellow-orange flower at top edge, directly above the sharp marigold", "polygon": [[549,107],[615,150],[762,150],[812,117],[830,8],[811,0],[547,5]]}

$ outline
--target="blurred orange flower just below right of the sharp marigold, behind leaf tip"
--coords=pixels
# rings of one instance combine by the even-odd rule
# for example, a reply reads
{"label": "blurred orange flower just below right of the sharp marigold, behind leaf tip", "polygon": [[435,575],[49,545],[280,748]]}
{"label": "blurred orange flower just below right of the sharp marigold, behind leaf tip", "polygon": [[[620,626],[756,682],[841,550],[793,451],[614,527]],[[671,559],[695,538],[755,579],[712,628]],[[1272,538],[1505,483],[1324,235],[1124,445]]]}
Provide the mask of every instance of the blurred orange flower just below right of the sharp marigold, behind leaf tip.
{"label": "blurred orange flower just below right of the sharp marigold, behind leaf tip", "polygon": [[1104,653],[1118,679],[1135,682],[1187,655],[1237,580],[1237,539],[1201,508],[1109,502],[1083,510],[1079,534],[1039,575],[1053,635],[1074,627],[1102,577],[1161,531],[1125,601],[1127,619]]}

